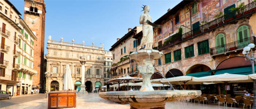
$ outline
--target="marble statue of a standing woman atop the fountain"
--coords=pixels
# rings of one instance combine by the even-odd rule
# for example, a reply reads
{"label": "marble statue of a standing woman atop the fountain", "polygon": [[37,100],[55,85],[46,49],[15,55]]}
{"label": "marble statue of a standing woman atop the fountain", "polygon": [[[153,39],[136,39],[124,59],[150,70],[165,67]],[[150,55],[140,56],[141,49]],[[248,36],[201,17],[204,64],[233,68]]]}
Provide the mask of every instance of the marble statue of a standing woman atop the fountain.
{"label": "marble statue of a standing woman atop the fountain", "polygon": [[142,49],[152,49],[154,43],[153,27],[147,23],[147,20],[152,22],[151,16],[148,15],[150,8],[148,5],[144,7],[144,13],[140,15],[140,24],[142,24],[143,37],[140,42]]}

